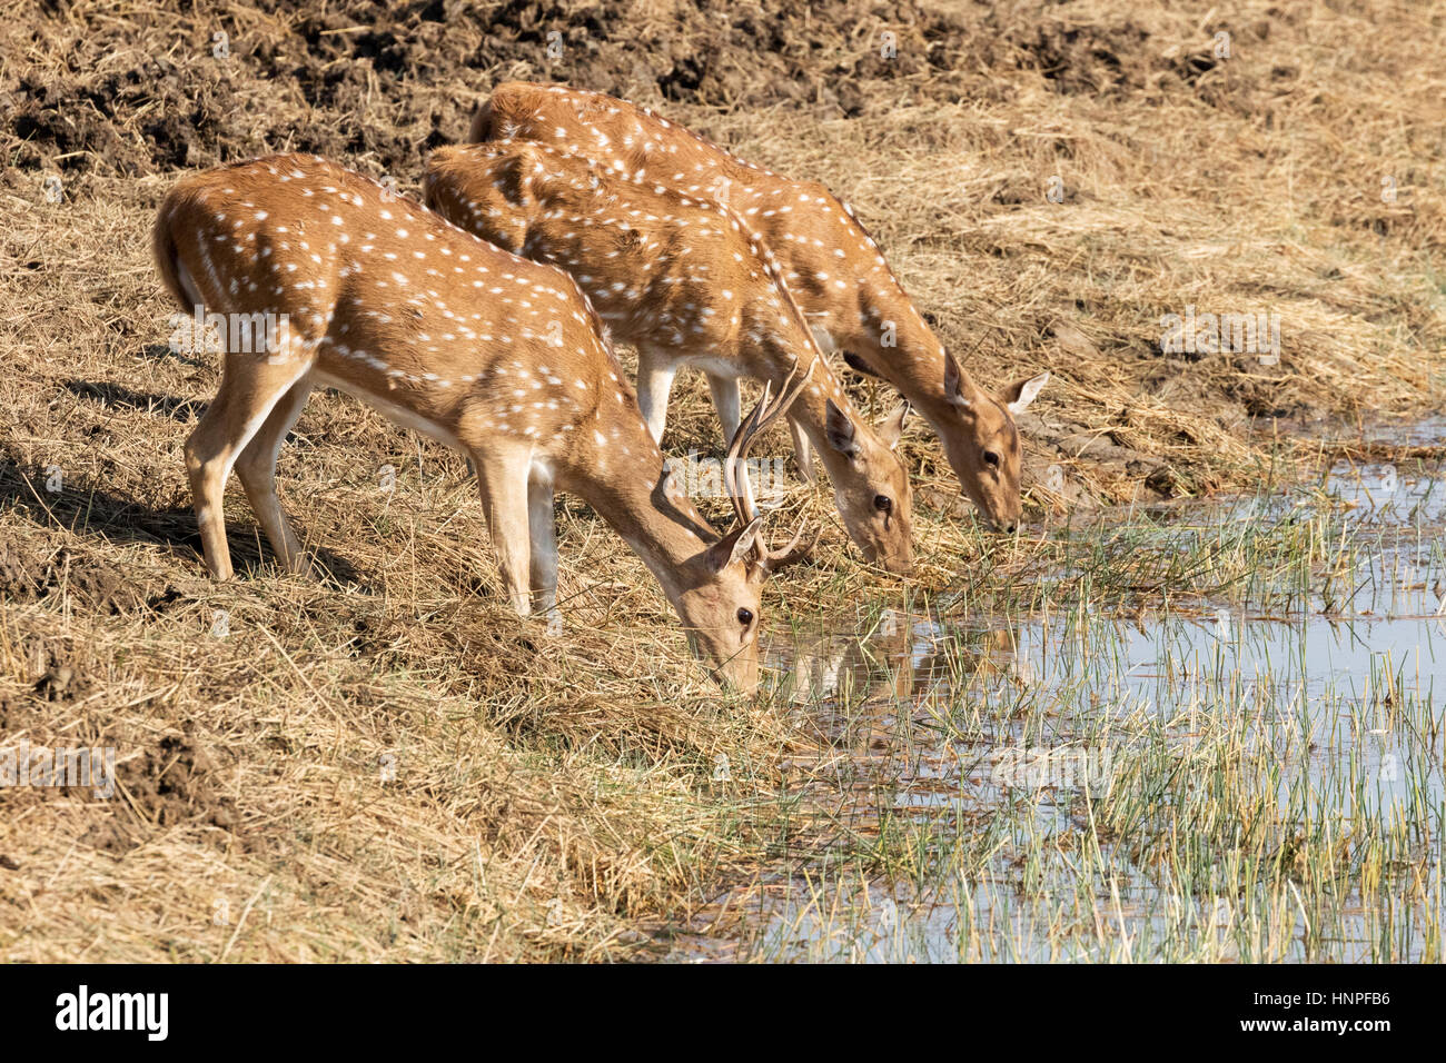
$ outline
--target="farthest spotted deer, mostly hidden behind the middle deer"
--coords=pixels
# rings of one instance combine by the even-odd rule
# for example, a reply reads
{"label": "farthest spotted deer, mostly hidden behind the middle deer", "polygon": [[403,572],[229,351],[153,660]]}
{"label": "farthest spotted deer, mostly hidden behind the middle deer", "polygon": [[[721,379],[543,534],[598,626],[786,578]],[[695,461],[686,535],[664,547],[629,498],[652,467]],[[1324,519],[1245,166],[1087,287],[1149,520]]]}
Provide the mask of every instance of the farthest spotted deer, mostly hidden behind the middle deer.
{"label": "farthest spotted deer, mostly hidden behind the middle deer", "polygon": [[918,409],[989,524],[1018,525],[1015,415],[1050,375],[1017,380],[998,396],[979,388],[924,323],[853,210],[827,188],[745,162],[645,107],[567,85],[497,85],[473,116],[470,137],[538,140],[639,184],[726,201],[778,256],[824,346]]}

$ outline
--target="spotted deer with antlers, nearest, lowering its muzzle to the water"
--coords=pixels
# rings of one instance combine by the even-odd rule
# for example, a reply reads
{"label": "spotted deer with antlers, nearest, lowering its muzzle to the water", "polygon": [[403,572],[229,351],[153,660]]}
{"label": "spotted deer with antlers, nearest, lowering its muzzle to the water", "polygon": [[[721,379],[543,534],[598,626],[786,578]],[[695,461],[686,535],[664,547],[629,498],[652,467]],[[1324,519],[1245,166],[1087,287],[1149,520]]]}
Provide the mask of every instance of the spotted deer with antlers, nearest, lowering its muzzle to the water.
{"label": "spotted deer with antlers, nearest, lowering its muzzle to the water", "polygon": [[[552,499],[570,490],[642,557],[704,662],[756,686],[763,580],[805,548],[798,535],[765,547],[746,469],[730,480],[739,524],[722,537],[677,490],[564,270],[307,155],[182,179],[153,244],[184,309],[275,323],[260,350],[234,330],[223,337],[220,390],[185,444],[211,576],[231,576],[221,499],[233,466],[282,564],[307,568],[276,498],[276,456],[312,388],[337,388],[471,458],[518,613],[555,615]],[[755,411],[735,450],[797,393]]]}

